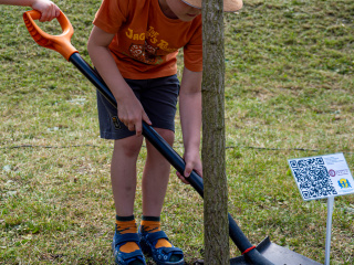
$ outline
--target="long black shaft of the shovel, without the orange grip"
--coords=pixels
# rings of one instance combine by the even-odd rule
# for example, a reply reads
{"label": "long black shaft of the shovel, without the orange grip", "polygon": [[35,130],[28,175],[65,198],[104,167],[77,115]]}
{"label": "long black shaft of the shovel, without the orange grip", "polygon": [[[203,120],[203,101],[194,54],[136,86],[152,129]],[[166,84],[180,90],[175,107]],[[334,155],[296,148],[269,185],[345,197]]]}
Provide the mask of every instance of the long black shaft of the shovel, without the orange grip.
{"label": "long black shaft of the shovel, without the orange grip", "polygon": [[[98,92],[115,107],[117,107],[117,103],[111,93],[110,88],[106,86],[102,77],[98,73],[84,61],[79,53],[73,53],[70,59],[80,72],[98,89]],[[144,137],[168,160],[168,162],[181,174],[185,171],[186,162],[184,159],[165,141],[163,137],[160,137],[156,130],[145,121],[143,121],[143,135]],[[192,171],[188,178],[186,178],[190,186],[201,195],[204,197],[204,184],[202,178],[196,172]],[[230,213],[228,214],[229,219],[229,235],[237,247],[244,252],[252,247],[252,244],[242,233],[240,227],[237,225],[236,221],[232,219]],[[246,256],[252,261],[252,264],[262,264],[262,265],[271,265],[258,251],[254,248],[248,253]],[[268,262],[268,263],[267,263]]]}

